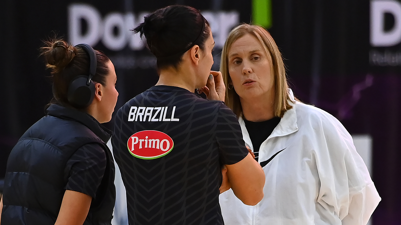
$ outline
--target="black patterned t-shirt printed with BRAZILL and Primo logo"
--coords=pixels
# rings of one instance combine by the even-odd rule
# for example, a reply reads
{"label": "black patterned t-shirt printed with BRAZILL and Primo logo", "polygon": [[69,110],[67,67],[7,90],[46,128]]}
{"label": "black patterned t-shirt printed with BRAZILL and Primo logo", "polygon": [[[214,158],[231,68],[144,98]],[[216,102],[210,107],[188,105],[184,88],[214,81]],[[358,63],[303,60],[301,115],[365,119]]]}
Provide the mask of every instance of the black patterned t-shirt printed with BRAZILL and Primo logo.
{"label": "black patterned t-shirt printed with BRAZILL and Primo logo", "polygon": [[118,110],[114,132],[130,225],[223,224],[221,165],[248,154],[223,102],[154,86]]}

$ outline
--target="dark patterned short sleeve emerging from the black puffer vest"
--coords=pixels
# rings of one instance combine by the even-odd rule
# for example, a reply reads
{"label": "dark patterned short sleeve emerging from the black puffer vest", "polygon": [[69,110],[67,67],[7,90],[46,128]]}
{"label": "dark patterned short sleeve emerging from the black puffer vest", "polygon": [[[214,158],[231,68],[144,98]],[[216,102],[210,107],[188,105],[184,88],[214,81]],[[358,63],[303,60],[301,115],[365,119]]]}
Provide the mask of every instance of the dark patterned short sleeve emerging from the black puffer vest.
{"label": "dark patterned short sleeve emerging from the black puffer vest", "polygon": [[95,198],[105,169],[106,153],[104,149],[96,143],[83,145],[67,161],[65,170],[69,174],[69,178],[64,189]]}

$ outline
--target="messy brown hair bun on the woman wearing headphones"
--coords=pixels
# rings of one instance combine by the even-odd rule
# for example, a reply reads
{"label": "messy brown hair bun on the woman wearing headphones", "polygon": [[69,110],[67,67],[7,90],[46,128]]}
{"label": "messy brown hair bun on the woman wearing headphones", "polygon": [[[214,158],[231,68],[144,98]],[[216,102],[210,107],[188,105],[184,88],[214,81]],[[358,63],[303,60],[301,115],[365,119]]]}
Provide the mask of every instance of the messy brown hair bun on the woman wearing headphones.
{"label": "messy brown hair bun on the woman wearing headphones", "polygon": [[74,46],[61,39],[46,41],[41,51],[46,59],[46,67],[51,68],[52,73],[63,70],[77,52]]}

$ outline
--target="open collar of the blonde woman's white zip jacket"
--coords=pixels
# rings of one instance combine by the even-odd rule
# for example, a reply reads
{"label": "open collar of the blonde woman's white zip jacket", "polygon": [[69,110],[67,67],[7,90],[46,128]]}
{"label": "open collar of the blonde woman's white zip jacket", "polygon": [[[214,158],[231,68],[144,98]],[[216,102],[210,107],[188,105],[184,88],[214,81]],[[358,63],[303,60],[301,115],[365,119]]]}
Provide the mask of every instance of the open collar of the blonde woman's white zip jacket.
{"label": "open collar of the blonde woman's white zip jacket", "polygon": [[[290,88],[288,88],[288,94],[290,95],[290,99],[292,100],[292,102],[290,102],[292,108],[284,113],[284,116],[280,120],[280,123],[277,125],[277,127],[274,128],[273,132],[267,139],[290,135],[298,131],[297,114],[295,109],[296,103],[294,103],[296,102],[296,100],[294,99],[294,94]],[[246,134],[243,137],[244,141],[246,143],[252,143],[251,139],[249,138],[248,131],[245,128],[245,122],[243,121],[242,117],[239,118],[239,124],[241,125],[242,132]]]}

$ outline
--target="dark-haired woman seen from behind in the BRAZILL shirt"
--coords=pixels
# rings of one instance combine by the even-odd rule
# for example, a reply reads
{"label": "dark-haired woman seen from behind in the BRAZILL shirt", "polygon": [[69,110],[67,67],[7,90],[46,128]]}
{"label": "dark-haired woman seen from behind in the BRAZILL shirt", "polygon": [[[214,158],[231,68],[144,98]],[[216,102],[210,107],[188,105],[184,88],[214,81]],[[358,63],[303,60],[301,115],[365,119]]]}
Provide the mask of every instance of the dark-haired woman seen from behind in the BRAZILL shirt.
{"label": "dark-haired woman seen from behind in the BRAZILL shirt", "polygon": [[[115,119],[113,153],[126,187],[129,223],[223,224],[219,194],[230,185],[243,203],[256,205],[264,173],[221,101],[221,73],[210,71],[209,23],[194,8],[168,6],[146,16],[134,32],[146,37],[160,78]],[[199,88],[217,100],[198,97]],[[219,191],[223,165],[229,182]]]}

